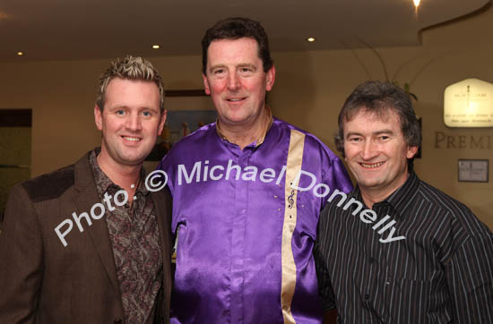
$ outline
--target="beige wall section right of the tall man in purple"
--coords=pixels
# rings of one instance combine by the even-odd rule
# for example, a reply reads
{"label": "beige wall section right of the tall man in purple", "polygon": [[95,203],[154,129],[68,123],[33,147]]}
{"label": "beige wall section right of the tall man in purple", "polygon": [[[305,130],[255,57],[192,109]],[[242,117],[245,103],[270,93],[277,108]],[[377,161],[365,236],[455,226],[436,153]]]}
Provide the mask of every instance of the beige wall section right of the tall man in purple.
{"label": "beige wall section right of the tall man in purple", "polygon": [[[452,129],[443,123],[445,87],[470,77],[493,82],[493,10],[468,21],[429,30],[421,47],[378,48],[390,79],[395,72],[401,84],[413,81],[411,92],[419,100],[417,115],[423,119],[422,158],[415,169],[421,179],[463,201],[493,228],[493,161],[489,163],[489,183],[459,183],[459,158],[490,158],[493,132],[485,129]],[[355,51],[371,77],[385,80],[376,55],[368,49]],[[353,52],[317,51],[281,53],[275,56],[277,81],[269,97],[274,115],[314,132],[331,149],[337,114],[344,99],[361,81],[368,80],[365,69]],[[450,137],[447,148],[437,142],[437,132]],[[468,148],[460,148],[459,136],[465,136]],[[471,139],[472,137],[472,139]],[[482,140],[481,140],[482,137]],[[441,137],[440,137],[441,138]],[[440,139],[438,138],[438,140]],[[454,146],[452,145],[454,139]],[[483,141],[482,148],[471,145]]]}

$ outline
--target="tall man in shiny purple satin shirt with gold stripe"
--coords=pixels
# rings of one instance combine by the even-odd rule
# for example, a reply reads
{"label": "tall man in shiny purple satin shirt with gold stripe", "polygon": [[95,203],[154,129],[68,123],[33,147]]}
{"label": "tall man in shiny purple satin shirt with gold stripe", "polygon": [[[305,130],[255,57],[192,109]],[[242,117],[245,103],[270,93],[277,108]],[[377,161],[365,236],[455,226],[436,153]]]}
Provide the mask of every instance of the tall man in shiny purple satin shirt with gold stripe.
{"label": "tall man in shiny purple satin shirt with gold stripe", "polygon": [[272,117],[275,68],[257,21],[219,21],[202,40],[216,123],[179,141],[159,168],[178,233],[173,323],[320,323],[312,248],[342,162],[310,133]]}

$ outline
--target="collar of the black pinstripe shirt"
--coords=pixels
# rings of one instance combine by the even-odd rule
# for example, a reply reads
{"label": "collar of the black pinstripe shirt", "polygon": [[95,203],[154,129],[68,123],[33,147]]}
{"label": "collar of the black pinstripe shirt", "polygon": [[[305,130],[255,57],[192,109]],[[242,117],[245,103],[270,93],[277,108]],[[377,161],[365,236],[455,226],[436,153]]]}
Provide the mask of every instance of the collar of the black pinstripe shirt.
{"label": "collar of the black pinstripe shirt", "polygon": [[[418,175],[411,171],[406,182],[402,184],[396,191],[392,192],[385,200],[378,201],[373,206],[378,207],[385,204],[391,205],[399,214],[403,214],[408,209],[414,197],[418,194],[419,178]],[[353,196],[363,202],[359,186],[357,185],[353,191]]]}

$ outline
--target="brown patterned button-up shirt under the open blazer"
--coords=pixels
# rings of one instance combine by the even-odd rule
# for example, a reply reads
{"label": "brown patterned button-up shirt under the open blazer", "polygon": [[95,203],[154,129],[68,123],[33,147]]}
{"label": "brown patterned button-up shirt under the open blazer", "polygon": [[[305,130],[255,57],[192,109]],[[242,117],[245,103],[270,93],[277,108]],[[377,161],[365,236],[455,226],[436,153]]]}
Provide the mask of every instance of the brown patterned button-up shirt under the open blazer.
{"label": "brown patterned button-up shirt under the open blazer", "polygon": [[[97,162],[99,149],[90,154],[94,180],[102,199],[105,192],[111,195],[114,210],[106,209],[109,239],[113,248],[120,293],[126,324],[151,324],[154,303],[162,282],[162,257],[160,233],[151,194],[145,187],[145,171],[135,192],[132,206],[114,203],[115,193],[122,190],[109,180]],[[118,195],[123,200],[123,195]]]}

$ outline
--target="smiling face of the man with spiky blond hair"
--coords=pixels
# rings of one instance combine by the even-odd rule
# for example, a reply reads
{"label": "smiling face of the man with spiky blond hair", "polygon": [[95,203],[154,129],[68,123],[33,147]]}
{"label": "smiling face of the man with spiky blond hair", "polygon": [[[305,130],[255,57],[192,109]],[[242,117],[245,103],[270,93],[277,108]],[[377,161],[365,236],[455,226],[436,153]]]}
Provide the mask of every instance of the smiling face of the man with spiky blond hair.
{"label": "smiling face of the man with spiky blond hair", "polygon": [[103,112],[94,107],[102,132],[101,157],[120,166],[137,166],[151,153],[162,132],[160,90],[151,81],[115,78],[109,81]]}

